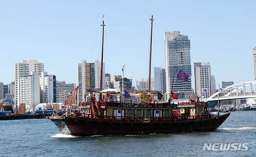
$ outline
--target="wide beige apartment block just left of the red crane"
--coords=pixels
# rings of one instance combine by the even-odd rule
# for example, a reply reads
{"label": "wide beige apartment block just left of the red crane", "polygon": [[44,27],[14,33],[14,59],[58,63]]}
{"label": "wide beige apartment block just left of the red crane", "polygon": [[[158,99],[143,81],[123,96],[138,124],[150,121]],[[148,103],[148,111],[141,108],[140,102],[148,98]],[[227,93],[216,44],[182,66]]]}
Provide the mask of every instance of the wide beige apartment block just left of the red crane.
{"label": "wide beige apartment block just left of the red crane", "polygon": [[56,81],[56,102],[67,102],[67,98],[72,95],[76,85],[75,83],[66,83],[65,81]]}

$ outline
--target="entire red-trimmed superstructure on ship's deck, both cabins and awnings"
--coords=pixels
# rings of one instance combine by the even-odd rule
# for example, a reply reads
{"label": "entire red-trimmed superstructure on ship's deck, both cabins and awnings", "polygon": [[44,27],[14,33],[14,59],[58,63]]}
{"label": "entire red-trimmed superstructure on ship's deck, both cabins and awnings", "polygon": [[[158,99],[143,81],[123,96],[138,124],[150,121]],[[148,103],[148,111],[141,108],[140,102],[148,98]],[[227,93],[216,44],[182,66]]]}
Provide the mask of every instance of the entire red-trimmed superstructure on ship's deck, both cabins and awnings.
{"label": "entire red-trimmed superstructure on ship's deck, both cabins and awnings", "polygon": [[[155,102],[155,93],[150,93],[148,99],[150,103],[142,101],[142,93],[130,94],[130,101],[126,103],[120,99],[116,101],[114,95],[119,94],[121,98],[121,92],[114,89],[106,89],[103,91],[112,92],[112,99],[108,99],[106,93],[102,93],[102,100],[96,100],[95,95],[91,96],[91,99],[86,102],[79,103],[79,109],[76,111],[78,117],[95,117],[100,119],[121,119],[121,120],[135,120],[135,121],[151,121],[151,120],[170,120],[187,118],[204,117],[203,115],[209,115],[210,112],[207,107],[207,102],[195,101],[196,95],[189,96],[189,102],[178,102],[178,109],[174,110],[174,103],[170,102]],[[100,91],[100,92],[103,92]],[[135,103],[132,97],[137,96],[138,101]],[[138,97],[139,96],[139,97]],[[150,100],[151,99],[151,100]],[[126,99],[127,100],[127,99]],[[130,103],[127,103],[130,102]]]}

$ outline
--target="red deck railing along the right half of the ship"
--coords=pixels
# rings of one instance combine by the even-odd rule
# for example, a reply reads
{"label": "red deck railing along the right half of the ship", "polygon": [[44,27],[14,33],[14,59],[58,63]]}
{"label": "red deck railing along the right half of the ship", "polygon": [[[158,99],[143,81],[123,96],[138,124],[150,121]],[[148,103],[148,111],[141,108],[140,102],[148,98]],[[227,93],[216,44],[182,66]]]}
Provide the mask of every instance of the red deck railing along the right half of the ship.
{"label": "red deck railing along the right half of the ship", "polygon": [[210,114],[197,116],[179,116],[179,117],[149,117],[150,122],[166,122],[166,121],[195,121],[211,118]]}

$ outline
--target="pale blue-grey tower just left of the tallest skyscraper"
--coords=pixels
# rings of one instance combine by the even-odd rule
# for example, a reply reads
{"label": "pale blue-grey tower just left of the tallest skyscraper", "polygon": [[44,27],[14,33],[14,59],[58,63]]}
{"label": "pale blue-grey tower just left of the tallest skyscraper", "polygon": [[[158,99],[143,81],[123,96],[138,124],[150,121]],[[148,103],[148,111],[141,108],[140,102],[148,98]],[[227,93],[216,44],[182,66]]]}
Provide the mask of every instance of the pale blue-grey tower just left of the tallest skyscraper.
{"label": "pale blue-grey tower just left of the tallest skyscraper", "polygon": [[154,67],[154,90],[166,93],[166,75],[162,67]]}

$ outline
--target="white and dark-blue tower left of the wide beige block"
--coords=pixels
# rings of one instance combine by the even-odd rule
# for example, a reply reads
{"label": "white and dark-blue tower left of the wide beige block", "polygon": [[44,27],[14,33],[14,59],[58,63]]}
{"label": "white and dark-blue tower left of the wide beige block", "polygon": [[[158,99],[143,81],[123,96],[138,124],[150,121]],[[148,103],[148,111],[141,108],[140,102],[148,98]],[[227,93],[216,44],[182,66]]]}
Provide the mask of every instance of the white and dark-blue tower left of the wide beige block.
{"label": "white and dark-blue tower left of the wide beige block", "polygon": [[40,103],[56,102],[56,76],[41,72]]}

